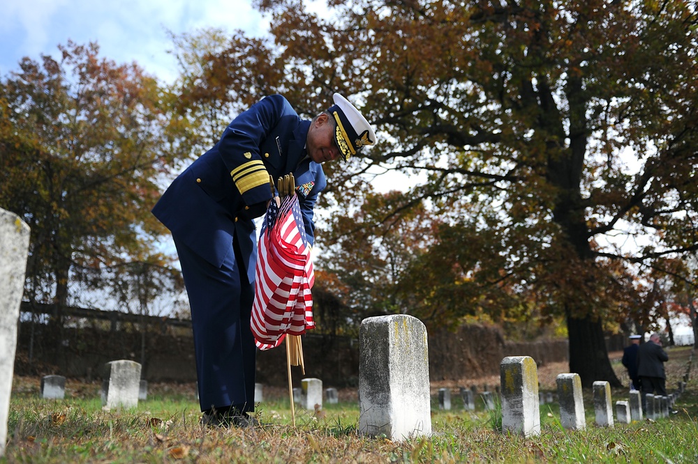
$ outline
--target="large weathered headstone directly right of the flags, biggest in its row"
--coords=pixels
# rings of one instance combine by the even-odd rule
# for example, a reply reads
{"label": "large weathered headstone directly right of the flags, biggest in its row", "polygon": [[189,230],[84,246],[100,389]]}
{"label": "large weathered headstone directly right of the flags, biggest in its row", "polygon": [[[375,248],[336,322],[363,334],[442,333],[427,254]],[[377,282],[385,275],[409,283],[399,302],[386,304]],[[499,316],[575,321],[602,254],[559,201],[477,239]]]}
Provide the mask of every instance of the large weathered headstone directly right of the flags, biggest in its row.
{"label": "large weathered headstone directly right of the flags, biggest in its row", "polygon": [[422,321],[366,318],[359,328],[359,433],[400,441],[431,436],[429,349]]}

